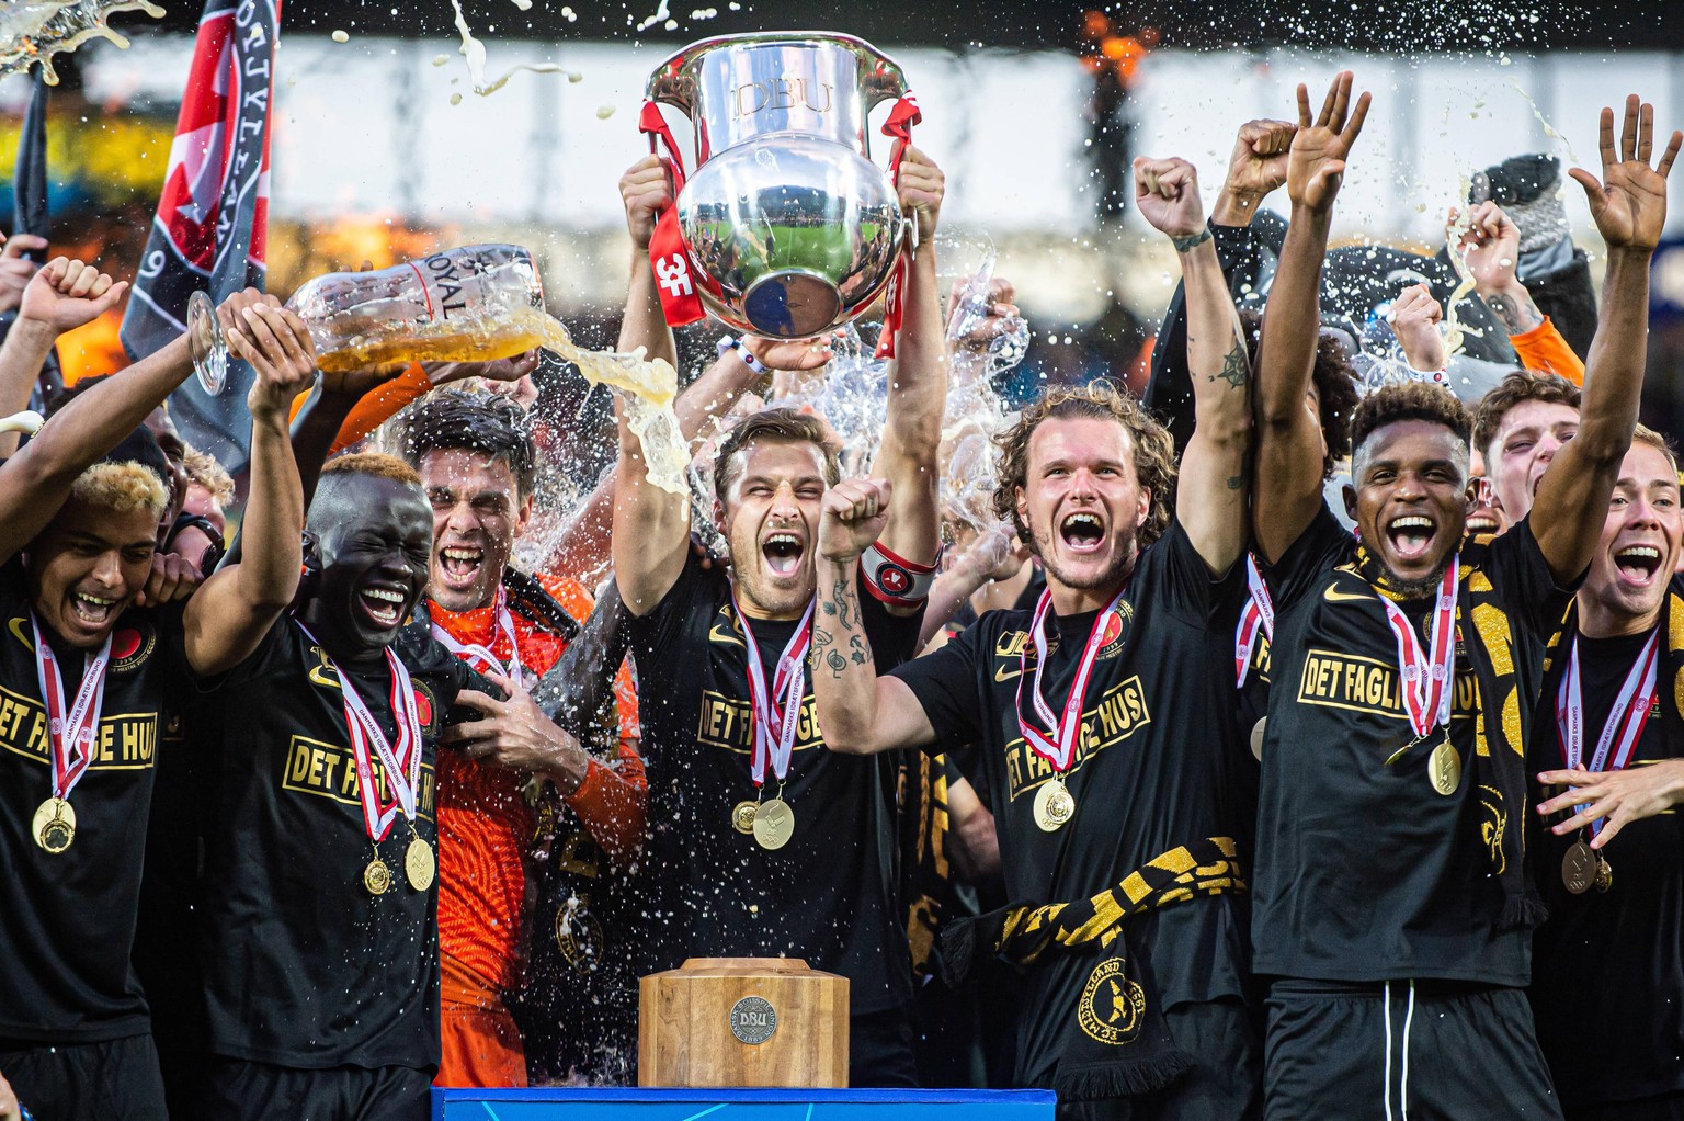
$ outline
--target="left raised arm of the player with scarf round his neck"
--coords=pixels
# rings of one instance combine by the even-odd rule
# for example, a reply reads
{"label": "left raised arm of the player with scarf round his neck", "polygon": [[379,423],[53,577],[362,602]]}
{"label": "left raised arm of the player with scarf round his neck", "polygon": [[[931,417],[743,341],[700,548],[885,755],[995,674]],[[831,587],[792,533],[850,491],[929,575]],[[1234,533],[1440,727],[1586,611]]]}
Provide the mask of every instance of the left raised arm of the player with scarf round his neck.
{"label": "left raised arm of the player with scarf round his neck", "polygon": [[1322,502],[1322,430],[1308,400],[1320,334],[1319,293],[1334,199],[1346,155],[1362,131],[1369,96],[1351,105],[1351,72],[1334,79],[1312,120],[1308,89],[1298,86],[1298,131],[1287,155],[1292,224],[1263,312],[1258,347],[1258,487],[1251,526],[1263,555],[1280,560]]}

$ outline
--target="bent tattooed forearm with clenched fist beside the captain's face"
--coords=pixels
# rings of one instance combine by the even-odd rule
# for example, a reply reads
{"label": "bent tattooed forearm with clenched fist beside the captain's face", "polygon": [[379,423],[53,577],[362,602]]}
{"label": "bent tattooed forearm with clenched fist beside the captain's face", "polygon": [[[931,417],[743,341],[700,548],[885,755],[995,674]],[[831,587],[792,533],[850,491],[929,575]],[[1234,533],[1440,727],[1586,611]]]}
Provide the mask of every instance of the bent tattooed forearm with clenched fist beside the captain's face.
{"label": "bent tattooed forearm with clenched fist beside the captain's face", "polygon": [[825,491],[818,518],[818,610],[813,614],[813,703],[825,747],[874,755],[936,738],[925,706],[899,678],[879,678],[859,620],[859,555],[889,519],[886,479],[847,479]]}

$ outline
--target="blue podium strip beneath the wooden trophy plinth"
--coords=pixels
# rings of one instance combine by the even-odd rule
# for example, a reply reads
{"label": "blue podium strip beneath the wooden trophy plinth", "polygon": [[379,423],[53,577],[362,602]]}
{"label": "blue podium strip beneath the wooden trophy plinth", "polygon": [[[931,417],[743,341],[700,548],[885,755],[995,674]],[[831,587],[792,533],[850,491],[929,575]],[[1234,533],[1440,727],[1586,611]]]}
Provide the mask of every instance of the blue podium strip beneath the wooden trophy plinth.
{"label": "blue podium strip beneath the wooden trophy plinth", "polygon": [[434,1089],[433,1121],[1051,1121],[1052,1091]]}

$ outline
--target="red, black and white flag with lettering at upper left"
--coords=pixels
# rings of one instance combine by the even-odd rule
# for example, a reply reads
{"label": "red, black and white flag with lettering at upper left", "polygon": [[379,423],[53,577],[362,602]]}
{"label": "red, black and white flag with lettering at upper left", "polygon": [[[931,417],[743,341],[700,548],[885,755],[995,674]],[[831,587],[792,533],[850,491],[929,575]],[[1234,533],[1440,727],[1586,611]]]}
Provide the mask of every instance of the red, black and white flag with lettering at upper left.
{"label": "red, black and white flag with lettering at upper left", "polygon": [[[280,0],[205,0],[175,121],[158,214],[123,315],[123,349],[143,357],[187,329],[187,298],[214,302],[264,282],[269,219],[269,101]],[[229,470],[246,465],[251,371],[229,362],[216,398],[189,379],[170,398],[182,435]]]}

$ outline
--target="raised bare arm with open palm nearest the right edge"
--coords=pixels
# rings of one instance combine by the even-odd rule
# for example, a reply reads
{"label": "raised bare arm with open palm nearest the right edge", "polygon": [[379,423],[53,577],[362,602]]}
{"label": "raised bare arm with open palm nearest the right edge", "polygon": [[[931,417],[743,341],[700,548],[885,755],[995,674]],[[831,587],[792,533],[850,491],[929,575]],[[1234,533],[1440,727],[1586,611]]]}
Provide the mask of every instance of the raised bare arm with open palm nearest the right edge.
{"label": "raised bare arm with open palm nearest the right edge", "polygon": [[1649,342],[1649,258],[1667,221],[1667,174],[1684,133],[1672,133],[1660,164],[1654,153],[1655,110],[1637,94],[1625,99],[1620,152],[1613,150],[1613,110],[1601,111],[1601,182],[1575,167],[1596,231],[1608,246],[1601,315],[1590,344],[1578,435],[1568,440],[1537,482],[1531,526],[1558,583],[1578,580],[1601,538],[1603,511],[1632,447],[1644,391]]}

